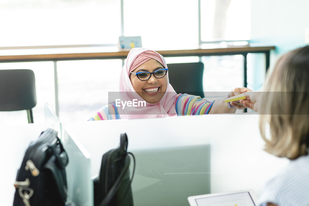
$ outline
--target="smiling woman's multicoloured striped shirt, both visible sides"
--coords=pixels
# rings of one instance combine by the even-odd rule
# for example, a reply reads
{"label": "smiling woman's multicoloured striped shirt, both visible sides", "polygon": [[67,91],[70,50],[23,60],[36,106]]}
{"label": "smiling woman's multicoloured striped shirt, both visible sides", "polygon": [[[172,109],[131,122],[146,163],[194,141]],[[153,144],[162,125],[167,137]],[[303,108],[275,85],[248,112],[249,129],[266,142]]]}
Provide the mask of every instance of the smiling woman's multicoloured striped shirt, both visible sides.
{"label": "smiling woman's multicoloured striped shirt, both visible sides", "polygon": [[[208,114],[213,104],[214,102],[209,102],[206,99],[202,99],[200,96],[188,94],[178,94],[174,102],[178,116]],[[118,107],[115,107],[115,102],[112,102],[102,107],[88,121],[118,119],[120,119]]]}

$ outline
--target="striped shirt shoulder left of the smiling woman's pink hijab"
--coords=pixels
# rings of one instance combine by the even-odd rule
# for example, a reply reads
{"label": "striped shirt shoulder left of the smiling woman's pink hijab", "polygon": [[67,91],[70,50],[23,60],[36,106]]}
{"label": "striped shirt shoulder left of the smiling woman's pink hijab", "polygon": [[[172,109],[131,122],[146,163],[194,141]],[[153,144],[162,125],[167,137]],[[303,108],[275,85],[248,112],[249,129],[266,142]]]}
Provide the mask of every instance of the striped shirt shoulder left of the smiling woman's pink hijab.
{"label": "striped shirt shoulder left of the smiling woman's pink hijab", "polygon": [[117,107],[115,107],[115,102],[112,102],[102,107],[94,116],[90,117],[88,121],[118,119],[120,119],[120,116]]}

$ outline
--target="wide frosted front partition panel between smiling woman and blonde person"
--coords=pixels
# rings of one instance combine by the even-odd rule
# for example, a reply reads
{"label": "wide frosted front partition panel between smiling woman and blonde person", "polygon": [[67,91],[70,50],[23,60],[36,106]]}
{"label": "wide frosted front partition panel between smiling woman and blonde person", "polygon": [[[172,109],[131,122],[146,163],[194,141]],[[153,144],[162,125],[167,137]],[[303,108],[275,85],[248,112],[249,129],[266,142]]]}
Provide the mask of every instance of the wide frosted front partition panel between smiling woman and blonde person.
{"label": "wide frosted front partition panel between smiling woman and blonde person", "polygon": [[[146,205],[144,200],[150,201],[148,205],[157,204],[159,200],[155,195],[170,205],[188,205],[187,200],[182,201],[184,196],[205,194],[208,188],[212,193],[252,188],[259,194],[266,181],[287,163],[262,150],[264,143],[256,114],[76,122],[66,129],[90,153],[91,175],[98,174],[102,155],[118,147],[120,134],[127,133],[128,151],[137,155],[137,171],[132,183],[136,206]],[[201,146],[201,150],[194,149],[195,146]],[[200,161],[192,163],[196,167],[209,165],[209,176],[204,174],[208,169],[172,170],[172,164],[175,168],[177,164],[178,168],[181,165],[187,165],[188,169],[193,167],[179,153],[176,161],[168,159],[168,155],[159,155],[160,152],[168,154],[169,150],[176,154],[182,149],[188,152],[180,153]],[[147,155],[151,158],[142,161]],[[146,171],[152,176],[147,176]],[[197,184],[196,179],[200,179],[200,183]],[[198,188],[201,190],[197,191]],[[178,196],[181,191],[183,194]]]}

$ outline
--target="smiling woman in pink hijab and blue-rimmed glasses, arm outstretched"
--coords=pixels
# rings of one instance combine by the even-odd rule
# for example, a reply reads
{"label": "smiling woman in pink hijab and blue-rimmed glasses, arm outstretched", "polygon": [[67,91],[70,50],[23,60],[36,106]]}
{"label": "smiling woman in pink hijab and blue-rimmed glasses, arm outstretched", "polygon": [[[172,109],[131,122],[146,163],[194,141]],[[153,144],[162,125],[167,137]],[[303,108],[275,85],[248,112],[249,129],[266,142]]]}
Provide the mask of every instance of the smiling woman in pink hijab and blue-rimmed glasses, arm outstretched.
{"label": "smiling woman in pink hijab and blue-rimmed glasses, arm outstretched", "polygon": [[[248,90],[235,88],[229,96]],[[199,96],[177,94],[169,84],[168,68],[163,56],[145,48],[133,48],[129,52],[121,70],[119,96],[120,99],[102,107],[89,120],[234,113],[236,108],[245,108],[239,102],[233,102],[231,105],[234,107],[229,107],[223,101],[225,98],[210,102]],[[133,102],[145,104],[134,105]]]}

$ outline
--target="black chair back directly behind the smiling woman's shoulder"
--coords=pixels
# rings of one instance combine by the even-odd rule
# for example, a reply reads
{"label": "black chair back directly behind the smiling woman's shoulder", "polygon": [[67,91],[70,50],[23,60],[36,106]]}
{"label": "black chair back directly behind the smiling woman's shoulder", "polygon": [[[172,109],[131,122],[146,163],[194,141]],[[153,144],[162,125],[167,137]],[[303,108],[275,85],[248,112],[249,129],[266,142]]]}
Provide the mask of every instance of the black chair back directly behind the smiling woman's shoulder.
{"label": "black chair back directly behind the smiling woman's shoulder", "polygon": [[170,84],[177,94],[187,93],[204,98],[202,62],[167,64],[167,68]]}

